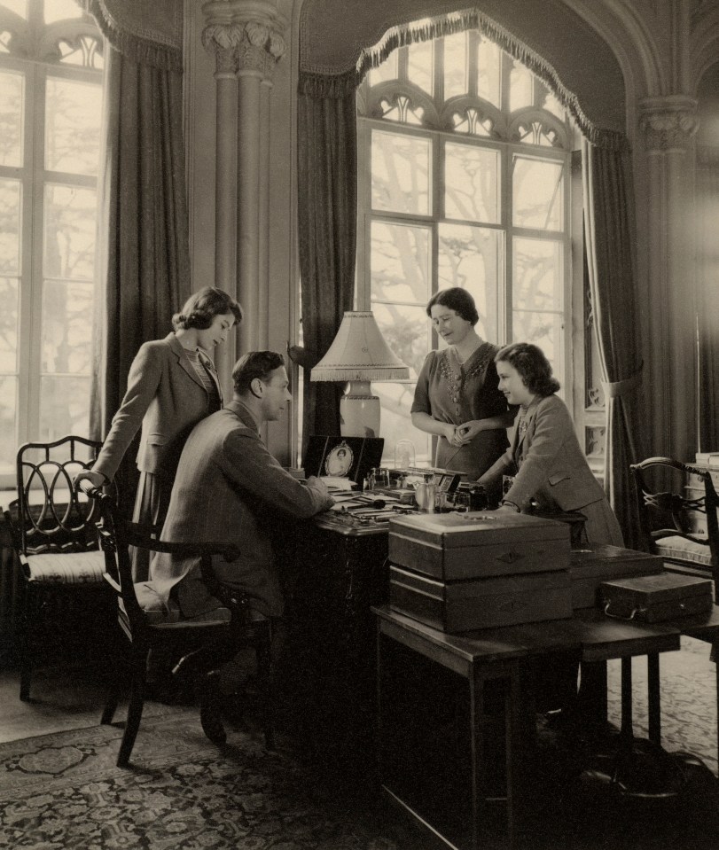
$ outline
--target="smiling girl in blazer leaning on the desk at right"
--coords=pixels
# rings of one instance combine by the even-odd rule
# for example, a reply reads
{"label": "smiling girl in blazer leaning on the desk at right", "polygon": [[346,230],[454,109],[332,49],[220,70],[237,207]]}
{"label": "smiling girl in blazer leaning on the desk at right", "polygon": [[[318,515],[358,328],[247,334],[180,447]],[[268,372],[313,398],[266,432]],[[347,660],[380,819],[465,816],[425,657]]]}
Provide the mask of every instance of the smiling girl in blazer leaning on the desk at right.
{"label": "smiling girl in blazer leaning on the desk at right", "polygon": [[[491,486],[514,475],[500,510],[526,511],[534,500],[543,510],[580,511],[590,543],[623,546],[621,528],[592,474],[564,402],[555,395],[559,381],[540,348],[515,342],[497,352],[499,389],[520,412],[510,448],[480,483]],[[515,474],[516,473],[516,474]]]}

